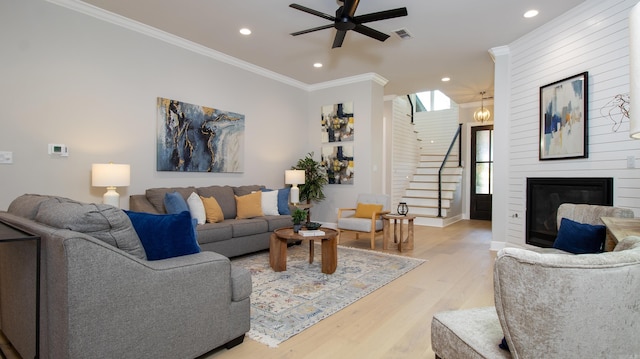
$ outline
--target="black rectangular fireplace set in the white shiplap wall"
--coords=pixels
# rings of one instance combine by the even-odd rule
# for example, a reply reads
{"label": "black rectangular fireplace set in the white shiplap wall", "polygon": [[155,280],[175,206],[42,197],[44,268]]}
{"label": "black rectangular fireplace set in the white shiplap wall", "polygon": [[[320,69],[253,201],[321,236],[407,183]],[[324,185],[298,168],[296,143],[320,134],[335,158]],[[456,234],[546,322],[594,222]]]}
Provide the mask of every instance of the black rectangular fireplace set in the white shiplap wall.
{"label": "black rectangular fireplace set in the white shiplap wall", "polygon": [[613,178],[527,178],[527,244],[553,246],[562,203],[612,206]]}

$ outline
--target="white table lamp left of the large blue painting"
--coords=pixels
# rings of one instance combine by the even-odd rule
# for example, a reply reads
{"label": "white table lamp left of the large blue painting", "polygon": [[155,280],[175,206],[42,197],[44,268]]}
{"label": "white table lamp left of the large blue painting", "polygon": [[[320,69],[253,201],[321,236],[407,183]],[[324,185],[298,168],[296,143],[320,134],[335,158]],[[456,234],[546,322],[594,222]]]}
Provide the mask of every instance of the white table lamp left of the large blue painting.
{"label": "white table lamp left of the large blue painting", "polygon": [[120,208],[120,195],[116,187],[126,187],[131,178],[130,165],[113,163],[94,163],[91,165],[91,185],[93,187],[107,187],[102,196],[102,203]]}

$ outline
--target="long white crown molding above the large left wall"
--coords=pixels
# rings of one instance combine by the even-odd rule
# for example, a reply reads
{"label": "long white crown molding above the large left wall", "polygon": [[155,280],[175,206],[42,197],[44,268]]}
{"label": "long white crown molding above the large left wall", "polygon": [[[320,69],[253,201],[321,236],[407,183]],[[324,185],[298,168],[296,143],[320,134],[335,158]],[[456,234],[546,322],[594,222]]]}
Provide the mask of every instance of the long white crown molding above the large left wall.
{"label": "long white crown molding above the large left wall", "polygon": [[145,25],[141,22],[126,18],[124,16],[112,13],[110,11],[106,11],[97,6],[87,4],[80,0],[46,0],[52,4],[59,5],[65,7],[67,9],[77,11],[79,13],[92,16],[94,18],[109,22],[116,26],[120,26],[149,37],[158,39],[160,41],[164,41],[166,43],[181,47],[185,50],[189,50],[195,52],[197,54],[210,57],[212,59],[218,60],[220,62],[247,70],[249,72],[253,72],[255,74],[270,78],[275,81],[282,82],[284,84],[297,87],[306,91],[310,91],[310,86],[298,80],[294,80],[290,77],[278,74],[276,72],[267,70],[265,68],[256,66],[246,61],[242,61],[235,57],[223,54],[219,51],[215,51],[206,46],[202,46],[195,42],[186,40],[182,37],[170,34],[168,32],[156,29],[155,27]]}

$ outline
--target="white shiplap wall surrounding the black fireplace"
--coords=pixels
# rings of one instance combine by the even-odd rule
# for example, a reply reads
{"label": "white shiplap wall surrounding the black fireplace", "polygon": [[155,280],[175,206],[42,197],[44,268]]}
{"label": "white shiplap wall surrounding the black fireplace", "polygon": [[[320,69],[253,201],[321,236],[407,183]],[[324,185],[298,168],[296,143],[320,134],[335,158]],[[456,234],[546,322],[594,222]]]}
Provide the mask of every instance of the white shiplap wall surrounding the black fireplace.
{"label": "white shiplap wall surrounding the black fireplace", "polygon": [[[640,141],[601,110],[629,92],[628,15],[637,0],[590,0],[509,45],[507,242],[524,245],[527,177],[613,177],[614,205],[640,216]],[[589,158],[539,161],[539,88],[589,72]],[[605,114],[605,115],[603,115]],[[517,217],[516,217],[517,215]]]}

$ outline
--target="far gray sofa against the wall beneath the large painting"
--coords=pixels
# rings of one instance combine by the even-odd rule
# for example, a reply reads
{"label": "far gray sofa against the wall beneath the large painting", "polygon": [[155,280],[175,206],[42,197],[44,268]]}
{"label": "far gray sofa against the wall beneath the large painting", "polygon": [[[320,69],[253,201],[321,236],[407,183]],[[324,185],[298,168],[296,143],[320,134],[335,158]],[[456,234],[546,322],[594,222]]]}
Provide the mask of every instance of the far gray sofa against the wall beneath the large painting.
{"label": "far gray sofa against the wall beneath the large painting", "polygon": [[130,196],[129,209],[136,212],[166,213],[164,198],[165,194],[171,192],[180,193],[185,200],[194,192],[202,197],[214,197],[224,213],[224,221],[199,224],[198,243],[203,251],[231,258],[269,249],[271,233],[278,228],[293,225],[290,215],[236,219],[235,196],[244,196],[262,189],[264,187],[259,185],[150,188],[145,194]]}

